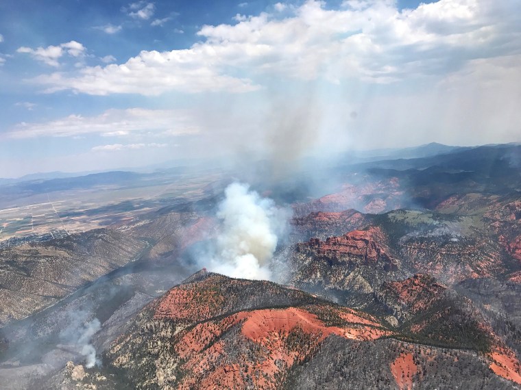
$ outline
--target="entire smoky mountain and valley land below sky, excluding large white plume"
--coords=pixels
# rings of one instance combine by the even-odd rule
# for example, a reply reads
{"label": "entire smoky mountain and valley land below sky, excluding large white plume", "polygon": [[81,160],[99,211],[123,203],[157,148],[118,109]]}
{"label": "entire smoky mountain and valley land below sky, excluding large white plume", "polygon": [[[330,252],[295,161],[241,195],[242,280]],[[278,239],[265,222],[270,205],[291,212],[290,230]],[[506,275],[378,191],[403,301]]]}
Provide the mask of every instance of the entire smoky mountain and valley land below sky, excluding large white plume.
{"label": "entire smoky mountain and valley land below sky, excluding large white plume", "polygon": [[158,173],[145,175],[150,187],[95,183],[82,190],[95,199],[88,207],[53,204],[64,237],[0,249],[0,380],[6,389],[521,388],[521,170],[507,164],[492,178],[483,168],[502,164],[507,147],[520,153],[489,146],[320,168],[313,174],[339,181],[319,197],[303,183],[289,194],[252,182],[287,218],[266,265],[272,281],[211,270],[223,190],[240,170],[191,172],[186,184],[164,177],[162,192]]}

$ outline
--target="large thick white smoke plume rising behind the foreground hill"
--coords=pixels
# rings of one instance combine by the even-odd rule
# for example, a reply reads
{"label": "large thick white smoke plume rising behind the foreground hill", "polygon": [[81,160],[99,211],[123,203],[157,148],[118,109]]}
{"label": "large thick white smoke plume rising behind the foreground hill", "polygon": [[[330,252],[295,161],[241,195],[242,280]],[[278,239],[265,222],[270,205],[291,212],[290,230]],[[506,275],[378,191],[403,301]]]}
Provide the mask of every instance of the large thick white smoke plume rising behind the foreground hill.
{"label": "large thick white smoke plume rising behind the foreground hill", "polygon": [[222,230],[208,268],[234,278],[271,279],[269,261],[287,213],[245,184],[228,185],[225,195],[217,212]]}

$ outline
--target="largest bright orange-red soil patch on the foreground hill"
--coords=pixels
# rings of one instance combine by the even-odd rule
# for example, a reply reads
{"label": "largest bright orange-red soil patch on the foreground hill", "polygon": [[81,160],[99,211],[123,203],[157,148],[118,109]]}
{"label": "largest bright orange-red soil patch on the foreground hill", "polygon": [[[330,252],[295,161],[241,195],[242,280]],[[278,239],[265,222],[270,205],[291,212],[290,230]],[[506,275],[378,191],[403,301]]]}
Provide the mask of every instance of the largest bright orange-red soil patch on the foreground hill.
{"label": "largest bright orange-red soil patch on the foreground hill", "polygon": [[[313,307],[321,313],[322,307]],[[327,309],[330,309],[329,307]],[[326,309],[324,309],[326,310]],[[335,334],[349,339],[378,339],[390,332],[372,322],[372,317],[357,315],[352,309],[337,309],[338,315],[354,323],[346,326],[326,326],[317,315],[302,308],[260,309],[241,311],[223,320],[208,321],[189,330],[175,344],[175,350],[187,359],[183,369],[191,374],[183,378],[180,389],[245,388],[245,376],[250,376],[256,389],[277,389],[278,373],[302,362],[326,337]],[[375,320],[376,321],[376,320]],[[228,345],[221,336],[240,326],[247,343]],[[369,326],[367,326],[369,325]],[[291,335],[304,335],[305,341],[295,342]],[[295,337],[295,336],[293,336]],[[222,359],[226,349],[233,348],[236,359]],[[254,357],[252,359],[252,353]],[[206,376],[206,373],[211,374]],[[199,382],[200,380],[200,382]]]}

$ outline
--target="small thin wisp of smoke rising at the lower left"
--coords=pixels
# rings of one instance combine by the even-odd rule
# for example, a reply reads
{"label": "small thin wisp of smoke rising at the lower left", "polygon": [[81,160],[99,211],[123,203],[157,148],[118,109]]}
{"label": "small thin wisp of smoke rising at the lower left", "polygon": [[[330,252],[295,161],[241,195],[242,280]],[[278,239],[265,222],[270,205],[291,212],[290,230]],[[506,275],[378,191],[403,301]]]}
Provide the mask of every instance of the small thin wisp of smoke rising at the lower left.
{"label": "small thin wisp of smoke rising at the lower left", "polygon": [[69,313],[71,324],[60,333],[60,339],[73,347],[74,351],[86,360],[85,367],[92,368],[99,365],[96,357],[96,349],[90,343],[93,335],[101,328],[97,318],[87,321],[86,311],[73,311]]}

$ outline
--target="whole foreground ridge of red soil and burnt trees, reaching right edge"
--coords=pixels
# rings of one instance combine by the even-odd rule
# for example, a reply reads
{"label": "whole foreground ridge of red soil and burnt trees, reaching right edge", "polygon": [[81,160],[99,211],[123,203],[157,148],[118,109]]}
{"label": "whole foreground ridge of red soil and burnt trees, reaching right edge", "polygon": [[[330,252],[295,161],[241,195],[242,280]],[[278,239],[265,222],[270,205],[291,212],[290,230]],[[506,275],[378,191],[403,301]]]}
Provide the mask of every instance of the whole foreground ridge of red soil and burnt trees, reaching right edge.
{"label": "whole foreground ridge of red soil and burnt trees, reaching right edge", "polygon": [[[411,298],[420,288],[430,292]],[[353,389],[516,388],[516,356],[486,326],[469,322],[462,333],[476,337],[464,346],[446,339],[445,348],[426,345],[432,332],[420,344],[402,332],[445,290],[427,276],[386,285],[387,307],[402,308],[392,326],[303,291],[202,271],[147,304],[102,367],[70,364],[43,388],[337,389],[346,380]],[[481,338],[489,341],[483,348]]]}

